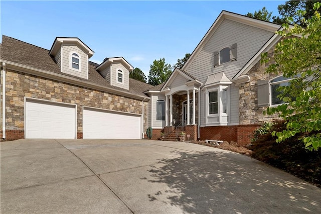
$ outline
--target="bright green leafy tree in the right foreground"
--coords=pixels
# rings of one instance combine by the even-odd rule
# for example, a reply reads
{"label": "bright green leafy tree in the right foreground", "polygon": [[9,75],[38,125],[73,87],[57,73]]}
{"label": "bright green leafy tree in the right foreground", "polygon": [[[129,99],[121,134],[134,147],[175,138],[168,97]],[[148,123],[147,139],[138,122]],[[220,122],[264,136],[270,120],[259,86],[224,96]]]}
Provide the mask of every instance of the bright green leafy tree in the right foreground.
{"label": "bright green leafy tree in the right foreground", "polygon": [[[279,89],[278,97],[284,103],[265,111],[286,121],[286,130],[272,135],[277,136],[277,142],[294,135],[301,136],[309,150],[321,147],[321,18],[317,11],[320,6],[320,3],[314,3],[315,13],[309,19],[304,19],[304,11],[298,12],[304,28],[282,25],[283,30],[277,34],[283,39],[275,47],[274,63],[266,70],[293,78]],[[267,53],[262,54],[262,63],[270,60]]]}

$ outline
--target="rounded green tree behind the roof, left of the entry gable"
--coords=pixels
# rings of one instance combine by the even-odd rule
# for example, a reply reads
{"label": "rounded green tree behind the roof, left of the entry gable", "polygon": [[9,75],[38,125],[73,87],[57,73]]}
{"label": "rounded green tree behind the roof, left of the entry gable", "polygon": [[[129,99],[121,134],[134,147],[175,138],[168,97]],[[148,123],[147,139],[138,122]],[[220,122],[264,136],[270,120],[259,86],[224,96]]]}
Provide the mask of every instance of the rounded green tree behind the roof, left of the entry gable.
{"label": "rounded green tree behind the roof, left of the entry gable", "polygon": [[149,69],[148,84],[159,85],[165,82],[171,74],[171,65],[165,62],[165,58],[154,60]]}

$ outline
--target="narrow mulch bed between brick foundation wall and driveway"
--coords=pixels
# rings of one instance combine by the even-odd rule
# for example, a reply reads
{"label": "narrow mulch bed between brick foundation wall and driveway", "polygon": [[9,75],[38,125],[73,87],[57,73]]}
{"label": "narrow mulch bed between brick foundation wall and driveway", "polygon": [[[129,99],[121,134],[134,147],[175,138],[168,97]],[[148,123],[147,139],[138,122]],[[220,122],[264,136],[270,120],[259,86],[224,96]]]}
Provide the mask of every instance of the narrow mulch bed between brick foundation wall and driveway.
{"label": "narrow mulch bed between brick foundation wall and driveway", "polygon": [[215,143],[214,144],[206,143],[205,141],[191,141],[191,143],[215,147],[215,148],[224,149],[224,150],[229,150],[229,151],[236,152],[236,153],[246,155],[249,157],[252,154],[251,150],[247,149],[246,147],[239,147],[237,145],[237,143],[235,143],[233,141],[232,142],[224,141],[223,143],[219,143],[219,145],[216,145]]}

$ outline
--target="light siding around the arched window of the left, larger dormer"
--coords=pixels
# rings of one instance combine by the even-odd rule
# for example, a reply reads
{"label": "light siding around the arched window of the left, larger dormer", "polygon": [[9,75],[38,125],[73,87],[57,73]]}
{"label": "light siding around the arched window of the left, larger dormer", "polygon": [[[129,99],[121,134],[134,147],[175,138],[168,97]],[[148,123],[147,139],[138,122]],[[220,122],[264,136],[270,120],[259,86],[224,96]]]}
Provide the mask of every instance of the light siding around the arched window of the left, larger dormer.
{"label": "light siding around the arched window of the left, larger dormer", "polygon": [[[62,53],[62,72],[68,73],[77,77],[88,79],[88,55],[85,54],[76,45],[63,45]],[[70,52],[77,52],[81,58],[81,71],[75,71],[70,69]]]}

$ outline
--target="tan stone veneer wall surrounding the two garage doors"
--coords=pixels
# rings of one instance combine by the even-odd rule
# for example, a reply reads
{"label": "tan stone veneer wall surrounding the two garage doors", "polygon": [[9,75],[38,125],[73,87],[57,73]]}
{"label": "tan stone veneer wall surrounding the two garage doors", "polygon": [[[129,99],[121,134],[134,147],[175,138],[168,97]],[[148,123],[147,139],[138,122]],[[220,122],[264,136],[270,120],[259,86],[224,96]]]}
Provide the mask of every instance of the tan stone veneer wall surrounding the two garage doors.
{"label": "tan stone veneer wall surrounding the two garage doors", "polygon": [[[2,77],[3,78],[3,77]],[[24,138],[24,97],[77,104],[77,138],[82,138],[82,107],[142,114],[142,101],[77,85],[7,69],[6,138]],[[3,97],[3,96],[2,96]],[[2,105],[2,100],[1,100]],[[144,126],[147,129],[148,103],[144,102]],[[2,123],[1,130],[2,130]],[[2,135],[2,133],[1,133]],[[2,136],[1,136],[2,137]]]}

